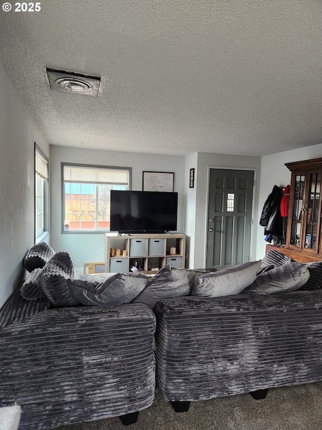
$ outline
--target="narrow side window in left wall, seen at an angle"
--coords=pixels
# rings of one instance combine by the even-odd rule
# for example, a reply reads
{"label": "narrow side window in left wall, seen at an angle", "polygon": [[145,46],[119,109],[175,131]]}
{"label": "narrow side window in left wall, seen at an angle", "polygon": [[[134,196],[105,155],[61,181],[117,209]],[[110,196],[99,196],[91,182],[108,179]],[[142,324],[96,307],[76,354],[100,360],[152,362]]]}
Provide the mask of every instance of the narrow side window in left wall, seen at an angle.
{"label": "narrow side window in left wall, seen at an angle", "polygon": [[35,242],[49,231],[48,159],[35,144]]}

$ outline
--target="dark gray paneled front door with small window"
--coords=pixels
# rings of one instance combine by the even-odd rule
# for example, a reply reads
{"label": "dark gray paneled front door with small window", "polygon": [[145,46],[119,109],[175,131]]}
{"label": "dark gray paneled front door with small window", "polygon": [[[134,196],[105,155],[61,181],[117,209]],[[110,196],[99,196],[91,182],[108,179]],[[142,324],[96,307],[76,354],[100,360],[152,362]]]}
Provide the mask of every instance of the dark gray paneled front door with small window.
{"label": "dark gray paneled front door with small window", "polygon": [[250,258],[254,171],[210,169],[207,268]]}

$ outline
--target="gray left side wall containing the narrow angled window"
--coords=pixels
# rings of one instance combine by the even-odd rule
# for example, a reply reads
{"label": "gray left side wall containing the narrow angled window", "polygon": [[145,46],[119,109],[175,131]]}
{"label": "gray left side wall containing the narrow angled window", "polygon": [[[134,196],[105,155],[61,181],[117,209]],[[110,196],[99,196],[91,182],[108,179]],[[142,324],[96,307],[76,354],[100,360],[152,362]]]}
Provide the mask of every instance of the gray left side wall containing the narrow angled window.
{"label": "gray left side wall containing the narrow angled window", "polygon": [[49,145],[0,60],[0,307],[20,285],[34,244],[34,142]]}

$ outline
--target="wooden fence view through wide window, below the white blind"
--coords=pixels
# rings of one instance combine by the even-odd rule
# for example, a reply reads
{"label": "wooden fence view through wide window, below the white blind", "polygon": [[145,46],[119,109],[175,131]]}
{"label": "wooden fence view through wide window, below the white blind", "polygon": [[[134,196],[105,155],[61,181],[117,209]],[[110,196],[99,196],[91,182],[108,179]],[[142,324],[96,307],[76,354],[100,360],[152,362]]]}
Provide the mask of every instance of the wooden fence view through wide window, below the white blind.
{"label": "wooden fence view through wide window, below the white blind", "polygon": [[64,230],[108,230],[111,190],[126,189],[126,186],[66,182]]}

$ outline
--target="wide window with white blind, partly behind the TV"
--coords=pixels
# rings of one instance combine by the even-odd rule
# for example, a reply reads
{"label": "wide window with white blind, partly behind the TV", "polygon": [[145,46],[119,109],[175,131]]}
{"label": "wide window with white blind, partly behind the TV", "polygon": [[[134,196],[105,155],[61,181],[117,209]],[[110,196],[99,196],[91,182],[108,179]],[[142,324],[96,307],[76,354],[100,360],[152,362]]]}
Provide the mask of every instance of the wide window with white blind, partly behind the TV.
{"label": "wide window with white blind, partly behind the TV", "polygon": [[130,177],[130,167],[62,163],[62,230],[109,230],[110,192],[129,190]]}

